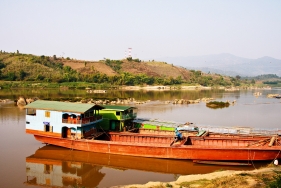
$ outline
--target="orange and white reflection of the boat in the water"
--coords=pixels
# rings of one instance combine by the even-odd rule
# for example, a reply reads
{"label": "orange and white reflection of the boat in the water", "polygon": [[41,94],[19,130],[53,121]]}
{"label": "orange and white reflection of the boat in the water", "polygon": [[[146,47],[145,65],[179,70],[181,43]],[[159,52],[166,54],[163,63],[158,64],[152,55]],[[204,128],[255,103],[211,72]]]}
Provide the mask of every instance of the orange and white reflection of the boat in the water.
{"label": "orange and white reflection of the boat in the water", "polygon": [[[255,164],[255,167],[263,164]],[[114,178],[107,177],[114,175],[109,172],[110,170],[119,170],[119,173],[132,170],[154,172],[154,176],[167,174],[170,177],[166,178],[166,181],[175,181],[179,175],[204,174],[222,169],[252,170],[254,167],[202,165],[188,160],[109,155],[48,145],[38,149],[35,154],[26,157],[27,178],[25,184],[56,187],[77,185],[82,187],[108,187],[118,185],[118,181],[113,181]],[[127,173],[124,174],[128,176]],[[146,183],[147,179],[151,180],[152,177],[149,173],[142,173],[141,176],[127,177],[127,181],[120,174],[118,178],[123,179],[122,184],[125,185],[131,182]],[[110,181],[106,182],[108,179]]]}

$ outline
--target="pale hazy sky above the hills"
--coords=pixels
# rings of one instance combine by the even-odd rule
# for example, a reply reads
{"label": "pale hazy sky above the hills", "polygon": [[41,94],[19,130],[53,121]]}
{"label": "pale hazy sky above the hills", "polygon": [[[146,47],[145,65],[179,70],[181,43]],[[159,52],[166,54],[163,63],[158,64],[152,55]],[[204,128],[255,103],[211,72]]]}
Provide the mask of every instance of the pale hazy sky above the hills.
{"label": "pale hazy sky above the hills", "polygon": [[281,59],[281,0],[1,0],[0,50],[83,60]]}

